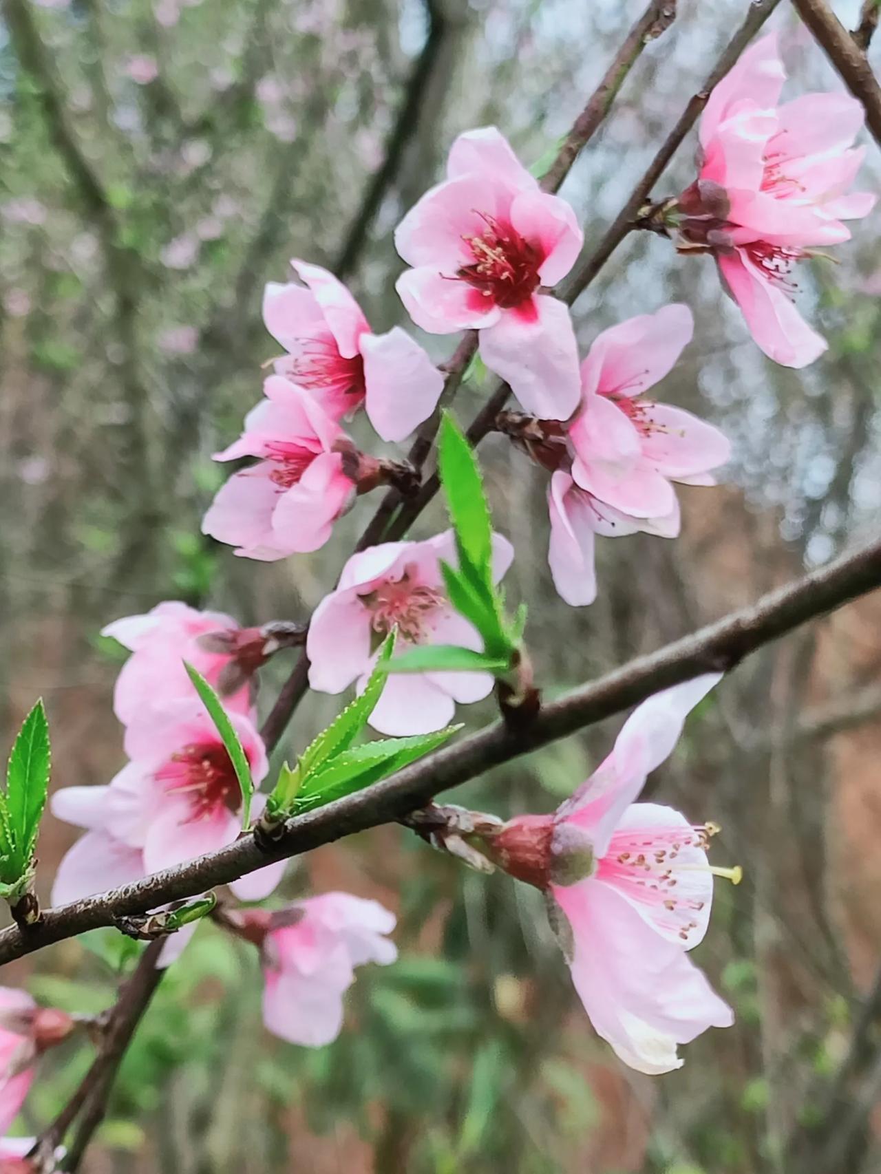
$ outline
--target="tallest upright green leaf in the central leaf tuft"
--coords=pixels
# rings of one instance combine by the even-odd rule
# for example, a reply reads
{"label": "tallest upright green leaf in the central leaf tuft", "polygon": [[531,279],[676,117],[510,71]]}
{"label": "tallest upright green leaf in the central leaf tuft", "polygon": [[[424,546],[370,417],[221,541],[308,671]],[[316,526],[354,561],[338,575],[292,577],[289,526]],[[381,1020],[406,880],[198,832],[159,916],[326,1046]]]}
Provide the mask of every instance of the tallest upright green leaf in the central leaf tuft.
{"label": "tallest upright green leaf in the central leaf tuft", "polygon": [[460,555],[492,585],[492,521],[475,451],[453,418],[441,420],[438,470]]}

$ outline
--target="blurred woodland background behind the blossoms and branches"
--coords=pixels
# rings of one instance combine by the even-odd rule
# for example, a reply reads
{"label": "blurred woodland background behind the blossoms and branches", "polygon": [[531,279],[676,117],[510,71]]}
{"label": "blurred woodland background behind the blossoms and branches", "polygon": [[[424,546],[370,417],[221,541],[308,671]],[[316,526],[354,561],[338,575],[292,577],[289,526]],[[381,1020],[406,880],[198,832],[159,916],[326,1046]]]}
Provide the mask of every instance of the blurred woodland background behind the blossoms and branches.
{"label": "blurred woodland background behind the blossoms and branches", "polygon": [[[54,785],[123,762],[99,636],[163,599],[243,623],[305,618],[376,498],[317,554],[235,559],[200,535],[228,444],[260,397],[263,284],[300,256],[350,282],[376,330],[404,318],[391,232],[460,130],[497,123],[531,164],[552,149],[641,0],[5,0],[0,21],[0,729],[41,694]],[[563,194],[589,243],[617,214],[740,22],[744,0],[680,0]],[[856,22],[856,0],[836,5]],[[781,5],[793,95],[838,88]],[[881,65],[881,43],[872,56]],[[413,94],[422,101],[413,109]],[[406,113],[402,117],[402,109]],[[860,188],[877,187],[868,140]],[[691,136],[655,196],[693,177]],[[805,372],[752,344],[709,261],[628,238],[574,308],[584,346],[624,317],[687,302],[695,339],[660,398],[709,417],[734,460],[684,488],[682,537],[599,544],[600,595],[561,603],[546,568],[545,479],[502,438],[482,447],[509,593],[547,696],[826,561],[877,526],[881,249],[876,216],[838,265],[800,266],[829,338]],[[453,339],[423,339],[438,360]],[[460,392],[469,419],[479,376]],[[375,448],[363,421],[356,438]],[[416,534],[445,525],[435,502]],[[268,1037],[253,951],[203,925],[130,1050],[94,1174],[858,1174],[881,1170],[881,600],[759,653],[688,727],[651,794],[718,821],[714,922],[693,958],[737,1025],[645,1078],[598,1041],[539,895],[382,828],[291,865],[288,897],[347,889],[399,916],[401,960],[362,969],[347,1028],[318,1052]],[[290,656],[291,654],[283,654]],[[262,702],[292,661],[264,672]],[[308,696],[282,753],[338,699]],[[491,704],[459,716],[479,726]],[[620,720],[519,760],[455,798],[550,810]],[[48,818],[46,895],[72,829]],[[7,969],[76,1011],[113,999],[112,931]],[[36,1132],[89,1060],[47,1058]]]}

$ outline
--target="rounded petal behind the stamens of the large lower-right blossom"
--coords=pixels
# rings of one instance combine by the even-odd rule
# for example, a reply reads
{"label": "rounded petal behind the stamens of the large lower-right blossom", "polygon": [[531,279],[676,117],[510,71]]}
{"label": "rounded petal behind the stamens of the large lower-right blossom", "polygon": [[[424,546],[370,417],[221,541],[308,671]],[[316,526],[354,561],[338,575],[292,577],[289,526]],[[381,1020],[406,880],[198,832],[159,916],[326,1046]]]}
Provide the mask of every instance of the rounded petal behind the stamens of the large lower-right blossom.
{"label": "rounded petal behind the stamens of the large lower-right blossom", "polygon": [[704,940],[713,873],[698,834],[681,812],[659,803],[633,803],[612,834],[596,876],[680,949],[693,950]]}

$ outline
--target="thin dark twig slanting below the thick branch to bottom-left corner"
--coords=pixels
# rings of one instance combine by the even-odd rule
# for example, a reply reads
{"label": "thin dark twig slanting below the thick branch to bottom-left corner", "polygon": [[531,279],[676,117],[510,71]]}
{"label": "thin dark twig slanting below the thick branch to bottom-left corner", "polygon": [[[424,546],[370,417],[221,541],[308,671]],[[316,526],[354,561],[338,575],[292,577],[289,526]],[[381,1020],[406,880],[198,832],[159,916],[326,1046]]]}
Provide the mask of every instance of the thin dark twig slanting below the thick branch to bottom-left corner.
{"label": "thin dark twig slanting below the thick branch to bottom-left corner", "polygon": [[97,1055],[67,1105],[38,1138],[31,1151],[32,1155],[49,1159],[82,1113],[82,1120],[65,1159],[66,1170],[73,1174],[78,1169],[93,1133],[103,1119],[107,1098],[126,1048],[164,973],[162,970],[156,970],[156,960],[163,944],[164,939],[159,938],[141,954],[132,977],[120,989],[116,1004],[102,1024]]}

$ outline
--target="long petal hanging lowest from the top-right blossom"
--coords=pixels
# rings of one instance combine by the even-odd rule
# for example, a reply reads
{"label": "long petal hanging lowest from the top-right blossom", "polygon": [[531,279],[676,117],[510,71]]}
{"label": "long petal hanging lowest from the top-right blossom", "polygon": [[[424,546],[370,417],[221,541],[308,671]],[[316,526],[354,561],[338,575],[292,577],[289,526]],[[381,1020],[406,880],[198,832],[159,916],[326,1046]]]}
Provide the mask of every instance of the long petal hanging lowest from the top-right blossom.
{"label": "long petal hanging lowest from the top-right blossom", "polygon": [[738,249],[718,258],[722,279],[740,306],[756,345],[782,366],[803,367],[826,350],[826,339],[803,321],[782,290]]}

